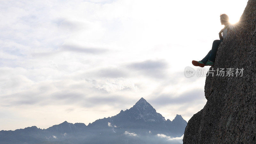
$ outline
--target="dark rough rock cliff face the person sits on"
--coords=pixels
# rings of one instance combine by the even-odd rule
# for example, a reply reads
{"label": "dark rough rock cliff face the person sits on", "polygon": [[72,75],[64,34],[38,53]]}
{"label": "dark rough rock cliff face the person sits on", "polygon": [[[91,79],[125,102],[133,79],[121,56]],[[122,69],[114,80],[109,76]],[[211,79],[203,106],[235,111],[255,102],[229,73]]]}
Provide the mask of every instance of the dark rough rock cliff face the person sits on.
{"label": "dark rough rock cliff face the person sits on", "polygon": [[188,121],[183,143],[256,143],[256,0],[220,44],[212,68],[244,71],[242,77],[206,77],[207,103]]}

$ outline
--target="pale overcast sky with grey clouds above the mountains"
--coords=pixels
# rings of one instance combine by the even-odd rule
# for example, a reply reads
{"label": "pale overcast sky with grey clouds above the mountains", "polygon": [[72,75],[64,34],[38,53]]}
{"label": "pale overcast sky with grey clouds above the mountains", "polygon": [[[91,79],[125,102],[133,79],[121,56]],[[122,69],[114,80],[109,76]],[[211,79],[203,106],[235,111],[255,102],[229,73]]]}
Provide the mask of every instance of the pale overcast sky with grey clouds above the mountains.
{"label": "pale overcast sky with grey clouds above the mountains", "polygon": [[201,110],[205,77],[186,78],[219,39],[220,14],[247,0],[0,2],[0,130],[114,116],[145,98],[165,119]]}

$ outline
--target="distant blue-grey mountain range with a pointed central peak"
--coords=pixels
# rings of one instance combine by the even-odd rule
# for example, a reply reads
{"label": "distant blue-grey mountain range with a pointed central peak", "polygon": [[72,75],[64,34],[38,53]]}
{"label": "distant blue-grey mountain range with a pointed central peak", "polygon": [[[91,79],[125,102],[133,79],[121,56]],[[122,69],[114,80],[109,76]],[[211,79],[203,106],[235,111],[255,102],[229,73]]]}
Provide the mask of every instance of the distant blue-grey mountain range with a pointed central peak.
{"label": "distant blue-grey mountain range with a pointed central peak", "polygon": [[116,116],[98,119],[87,126],[67,121],[47,129],[36,126],[0,131],[0,143],[170,143],[183,135],[187,122],[180,115],[171,121],[156,112],[145,99]]}

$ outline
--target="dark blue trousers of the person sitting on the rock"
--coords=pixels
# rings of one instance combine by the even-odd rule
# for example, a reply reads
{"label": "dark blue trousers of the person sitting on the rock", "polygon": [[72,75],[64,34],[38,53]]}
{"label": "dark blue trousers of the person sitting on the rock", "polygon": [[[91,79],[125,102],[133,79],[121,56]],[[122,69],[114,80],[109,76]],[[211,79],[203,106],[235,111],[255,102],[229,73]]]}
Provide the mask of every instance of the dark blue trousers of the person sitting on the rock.
{"label": "dark blue trousers of the person sitting on the rock", "polygon": [[210,52],[208,52],[208,54],[204,57],[204,59],[201,60],[204,64],[207,62],[207,60],[211,60],[211,61],[215,62],[216,53],[217,53],[218,47],[221,42],[222,42],[222,40],[214,40],[213,41],[212,49],[210,50]]}

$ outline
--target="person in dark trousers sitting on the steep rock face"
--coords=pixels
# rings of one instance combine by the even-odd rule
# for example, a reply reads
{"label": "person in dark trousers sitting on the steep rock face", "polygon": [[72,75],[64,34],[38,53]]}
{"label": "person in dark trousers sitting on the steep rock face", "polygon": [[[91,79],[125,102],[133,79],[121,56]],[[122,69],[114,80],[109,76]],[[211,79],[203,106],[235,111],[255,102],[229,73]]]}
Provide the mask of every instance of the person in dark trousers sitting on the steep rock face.
{"label": "person in dark trousers sitting on the steep rock face", "polygon": [[[221,23],[221,25],[225,25],[225,27],[220,30],[220,33],[219,33],[220,40],[213,41],[212,50],[210,50],[210,52],[208,52],[208,54],[204,57],[203,60],[201,60],[201,61],[192,60],[192,64],[194,66],[199,66],[199,67],[213,66],[213,64],[215,62],[216,53],[217,53],[220,43],[227,36],[227,34],[234,28],[234,26],[231,23],[229,23],[227,14],[220,15],[220,23]],[[221,33],[222,33],[222,35],[221,35]]]}

